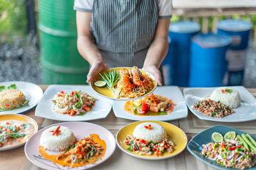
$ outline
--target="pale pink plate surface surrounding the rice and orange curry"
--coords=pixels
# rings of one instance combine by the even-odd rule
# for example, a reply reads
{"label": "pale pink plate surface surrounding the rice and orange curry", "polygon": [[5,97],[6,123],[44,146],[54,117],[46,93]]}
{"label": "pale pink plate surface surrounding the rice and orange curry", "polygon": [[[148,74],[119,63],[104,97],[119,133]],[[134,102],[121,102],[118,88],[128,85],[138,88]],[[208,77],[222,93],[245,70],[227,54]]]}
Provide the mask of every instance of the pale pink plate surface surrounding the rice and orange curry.
{"label": "pale pink plate surface surrounding the rice and orange curry", "polygon": [[[64,167],[60,166],[58,164],[54,164],[51,162],[51,160],[47,160],[42,158],[42,155],[38,152],[39,146],[40,146],[40,137],[42,135],[42,132],[45,131],[45,129],[48,129],[52,126],[62,125],[65,127],[69,127],[76,136],[77,140],[83,139],[85,137],[88,137],[90,134],[98,134],[100,139],[104,140],[106,142],[106,153],[104,157],[101,160],[98,160],[95,162],[95,164],[88,164],[81,167]],[[108,129],[105,129],[104,127],[101,127],[100,125],[91,124],[88,122],[63,122],[60,124],[53,124],[49,125],[48,127],[45,127],[44,129],[41,129],[40,131],[36,132],[26,143],[25,145],[25,154],[26,157],[29,159],[30,162],[35,164],[38,167],[41,167],[43,169],[89,169],[90,167],[97,166],[107,160],[115,151],[116,144],[115,144],[115,138],[111,132],[108,131]],[[52,154],[53,152],[51,152]],[[60,152],[54,152],[54,155],[59,154]]]}

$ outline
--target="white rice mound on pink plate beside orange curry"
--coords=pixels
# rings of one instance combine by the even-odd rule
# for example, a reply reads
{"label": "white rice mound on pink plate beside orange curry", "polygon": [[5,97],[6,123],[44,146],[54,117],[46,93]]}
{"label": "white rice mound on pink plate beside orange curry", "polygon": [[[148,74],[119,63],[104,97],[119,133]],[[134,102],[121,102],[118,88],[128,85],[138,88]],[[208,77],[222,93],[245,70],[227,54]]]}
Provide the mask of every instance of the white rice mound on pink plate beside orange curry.
{"label": "white rice mound on pink plate beside orange curry", "polygon": [[50,131],[54,131],[57,127],[58,126],[49,127],[42,132],[40,145],[44,146],[46,150],[63,151],[76,143],[76,137],[68,127],[61,126],[61,132],[58,136],[52,135]]}

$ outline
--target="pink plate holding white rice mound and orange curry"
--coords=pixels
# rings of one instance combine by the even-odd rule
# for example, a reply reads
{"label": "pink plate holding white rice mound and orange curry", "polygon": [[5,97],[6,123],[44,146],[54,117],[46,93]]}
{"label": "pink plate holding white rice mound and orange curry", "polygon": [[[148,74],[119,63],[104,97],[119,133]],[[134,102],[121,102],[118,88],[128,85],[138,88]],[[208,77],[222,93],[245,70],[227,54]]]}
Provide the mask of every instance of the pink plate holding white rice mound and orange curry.
{"label": "pink plate holding white rice mound and orange curry", "polygon": [[89,169],[115,151],[115,138],[104,127],[65,122],[38,131],[25,146],[26,157],[43,169]]}

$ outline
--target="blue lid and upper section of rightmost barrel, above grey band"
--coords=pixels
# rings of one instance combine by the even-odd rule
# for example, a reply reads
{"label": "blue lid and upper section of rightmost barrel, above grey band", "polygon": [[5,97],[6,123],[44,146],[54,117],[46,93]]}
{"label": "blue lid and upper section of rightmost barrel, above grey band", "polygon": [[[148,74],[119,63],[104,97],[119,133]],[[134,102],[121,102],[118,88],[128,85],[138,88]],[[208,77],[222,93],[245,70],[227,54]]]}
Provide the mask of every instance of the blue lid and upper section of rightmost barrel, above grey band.
{"label": "blue lid and upper section of rightmost barrel, above grey band", "polygon": [[231,50],[244,50],[248,46],[252,24],[246,20],[221,20],[217,34],[228,34],[232,38]]}

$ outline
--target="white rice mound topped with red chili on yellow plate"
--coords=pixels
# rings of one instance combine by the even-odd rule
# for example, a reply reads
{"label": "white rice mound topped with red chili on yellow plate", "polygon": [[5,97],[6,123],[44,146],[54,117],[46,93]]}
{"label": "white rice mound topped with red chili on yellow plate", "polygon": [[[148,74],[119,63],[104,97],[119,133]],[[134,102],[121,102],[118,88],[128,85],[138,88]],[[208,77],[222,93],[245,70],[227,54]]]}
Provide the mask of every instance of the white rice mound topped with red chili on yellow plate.
{"label": "white rice mound topped with red chili on yellow plate", "polygon": [[[148,126],[149,124],[151,125],[152,128],[150,130],[144,127],[145,125]],[[153,122],[145,122],[138,124],[134,128],[132,135],[136,138],[144,139],[147,142],[153,141],[154,143],[163,141],[163,139],[167,137],[164,127]]]}

